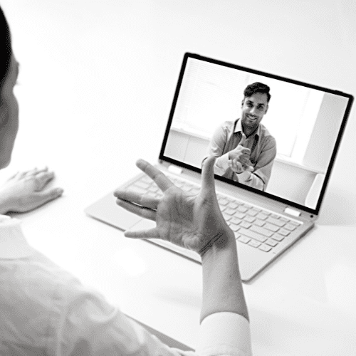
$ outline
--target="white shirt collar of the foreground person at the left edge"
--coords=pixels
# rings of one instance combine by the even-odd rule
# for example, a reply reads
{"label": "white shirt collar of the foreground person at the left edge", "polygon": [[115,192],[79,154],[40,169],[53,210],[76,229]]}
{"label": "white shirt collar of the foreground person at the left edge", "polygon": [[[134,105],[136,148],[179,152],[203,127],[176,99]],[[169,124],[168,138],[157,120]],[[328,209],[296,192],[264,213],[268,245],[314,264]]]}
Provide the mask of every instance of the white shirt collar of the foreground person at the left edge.
{"label": "white shirt collar of the foreground person at the left edge", "polygon": [[19,219],[0,215],[0,258],[25,258],[35,252],[23,236],[20,224]]}

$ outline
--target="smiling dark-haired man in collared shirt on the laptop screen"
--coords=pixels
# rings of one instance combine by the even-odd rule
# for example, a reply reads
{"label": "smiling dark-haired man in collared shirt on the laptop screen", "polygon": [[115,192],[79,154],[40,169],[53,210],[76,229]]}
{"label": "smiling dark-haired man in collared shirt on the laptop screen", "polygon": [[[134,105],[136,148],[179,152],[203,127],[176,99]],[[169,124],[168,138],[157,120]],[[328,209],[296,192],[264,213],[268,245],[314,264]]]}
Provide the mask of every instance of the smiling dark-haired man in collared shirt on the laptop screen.
{"label": "smiling dark-haired man in collared shirt on the laptop screen", "polygon": [[269,90],[263,83],[247,85],[241,118],[225,121],[216,129],[204,157],[219,157],[215,174],[263,191],[277,154],[276,140],[261,124],[271,99]]}

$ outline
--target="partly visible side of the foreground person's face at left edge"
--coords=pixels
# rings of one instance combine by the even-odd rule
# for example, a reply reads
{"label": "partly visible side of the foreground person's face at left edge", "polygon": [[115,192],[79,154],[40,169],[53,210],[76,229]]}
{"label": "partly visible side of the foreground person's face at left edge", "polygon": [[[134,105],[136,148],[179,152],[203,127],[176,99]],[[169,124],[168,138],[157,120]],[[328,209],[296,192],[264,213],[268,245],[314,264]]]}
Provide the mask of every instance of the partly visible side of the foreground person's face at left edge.
{"label": "partly visible side of the foreground person's face at left edge", "polygon": [[14,86],[19,75],[19,63],[11,57],[9,73],[0,93],[3,107],[0,108],[0,169],[9,165],[19,130],[19,105],[14,95]]}

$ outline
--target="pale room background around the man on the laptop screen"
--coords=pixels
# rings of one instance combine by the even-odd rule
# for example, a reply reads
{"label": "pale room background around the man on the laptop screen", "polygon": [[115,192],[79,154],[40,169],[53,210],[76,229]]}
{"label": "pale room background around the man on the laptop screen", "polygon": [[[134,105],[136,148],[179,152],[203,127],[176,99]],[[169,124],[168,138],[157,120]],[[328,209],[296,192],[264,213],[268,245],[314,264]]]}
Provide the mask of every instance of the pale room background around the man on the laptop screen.
{"label": "pale room background around the man on the laptop screen", "polygon": [[[261,125],[276,141],[276,157],[267,178],[254,157],[252,173],[264,182],[250,188],[315,209],[348,99],[253,72],[187,58],[164,156],[201,168],[214,132],[226,121],[241,119],[246,86],[263,83],[271,99]],[[310,195],[315,198],[310,200]]]}

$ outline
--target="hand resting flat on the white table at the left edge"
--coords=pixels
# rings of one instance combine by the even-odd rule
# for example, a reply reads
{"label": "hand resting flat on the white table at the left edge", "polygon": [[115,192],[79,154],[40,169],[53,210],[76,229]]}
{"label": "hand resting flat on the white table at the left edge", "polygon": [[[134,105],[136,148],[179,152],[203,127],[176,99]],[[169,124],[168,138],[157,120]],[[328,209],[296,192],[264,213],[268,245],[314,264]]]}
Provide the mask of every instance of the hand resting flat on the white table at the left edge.
{"label": "hand resting flat on the white table at the left edge", "polygon": [[45,190],[53,178],[54,173],[48,172],[47,167],[14,174],[0,187],[0,214],[23,213],[60,197],[63,189]]}

